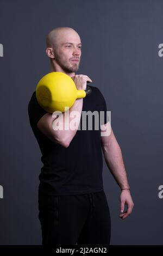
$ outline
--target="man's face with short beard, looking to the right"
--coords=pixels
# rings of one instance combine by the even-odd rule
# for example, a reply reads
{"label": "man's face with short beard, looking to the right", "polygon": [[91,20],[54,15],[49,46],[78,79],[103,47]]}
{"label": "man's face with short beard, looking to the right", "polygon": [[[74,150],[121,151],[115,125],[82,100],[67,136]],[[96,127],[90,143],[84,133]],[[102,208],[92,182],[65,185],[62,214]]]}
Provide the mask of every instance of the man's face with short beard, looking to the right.
{"label": "man's face with short beard, looking to the right", "polygon": [[65,72],[76,72],[82,54],[80,37],[74,32],[66,32],[59,38],[58,47],[54,49],[55,61]]}

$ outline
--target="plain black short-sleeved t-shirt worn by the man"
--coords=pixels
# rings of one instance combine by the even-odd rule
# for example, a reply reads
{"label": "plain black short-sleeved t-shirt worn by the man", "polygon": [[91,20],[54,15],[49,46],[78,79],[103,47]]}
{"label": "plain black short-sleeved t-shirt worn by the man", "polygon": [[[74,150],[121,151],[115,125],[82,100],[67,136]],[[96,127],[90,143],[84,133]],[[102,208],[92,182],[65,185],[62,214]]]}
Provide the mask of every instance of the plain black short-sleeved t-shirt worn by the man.
{"label": "plain black short-sleeved t-shirt worn by the man", "polygon": [[103,190],[100,124],[106,124],[109,117],[102,93],[97,87],[90,87],[91,94],[83,99],[82,115],[83,111],[104,111],[104,120],[99,121],[99,129],[95,130],[95,118],[92,118],[93,129],[86,126],[86,130],[82,130],[85,122],[81,115],[80,129],[67,148],[51,141],[37,128],[37,122],[47,112],[37,102],[35,92],[29,101],[29,121],[42,153],[39,175],[42,194],[70,195]]}

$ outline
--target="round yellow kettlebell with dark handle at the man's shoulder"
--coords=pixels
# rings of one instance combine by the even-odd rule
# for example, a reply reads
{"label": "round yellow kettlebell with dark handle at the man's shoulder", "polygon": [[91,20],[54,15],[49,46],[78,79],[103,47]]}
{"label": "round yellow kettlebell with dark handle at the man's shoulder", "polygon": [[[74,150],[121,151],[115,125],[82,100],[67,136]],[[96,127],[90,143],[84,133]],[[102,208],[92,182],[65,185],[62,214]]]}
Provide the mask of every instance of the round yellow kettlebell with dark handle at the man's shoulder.
{"label": "round yellow kettlebell with dark handle at the man's shoulder", "polygon": [[71,108],[76,99],[84,98],[90,92],[91,88],[77,90],[72,78],[65,73],[51,72],[37,83],[36,99],[39,105],[49,113],[65,112],[65,107]]}

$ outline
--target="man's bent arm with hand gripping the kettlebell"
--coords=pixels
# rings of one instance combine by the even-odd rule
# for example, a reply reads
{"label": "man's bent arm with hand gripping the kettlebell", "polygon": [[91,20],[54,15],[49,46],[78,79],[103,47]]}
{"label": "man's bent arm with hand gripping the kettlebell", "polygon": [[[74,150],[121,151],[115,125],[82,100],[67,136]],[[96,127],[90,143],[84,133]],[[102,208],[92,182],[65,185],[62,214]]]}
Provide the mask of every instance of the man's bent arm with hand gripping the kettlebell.
{"label": "man's bent arm with hand gripping the kettlebell", "polygon": [[[71,78],[76,84],[76,88],[78,90],[85,90],[86,82],[92,82],[92,80],[86,75],[75,75]],[[40,129],[40,131],[53,142],[67,148],[78,130],[82,108],[83,99],[77,99],[73,106],[68,109],[68,114],[66,111],[58,117],[54,117],[51,113],[46,113],[43,115],[43,117],[37,123],[37,128]],[[76,113],[73,111],[76,111]],[[76,124],[74,124],[74,127],[72,128],[71,126],[73,124],[71,124],[71,121],[74,120],[73,114],[76,115]],[[55,129],[57,128],[58,124],[61,125],[61,129]]]}

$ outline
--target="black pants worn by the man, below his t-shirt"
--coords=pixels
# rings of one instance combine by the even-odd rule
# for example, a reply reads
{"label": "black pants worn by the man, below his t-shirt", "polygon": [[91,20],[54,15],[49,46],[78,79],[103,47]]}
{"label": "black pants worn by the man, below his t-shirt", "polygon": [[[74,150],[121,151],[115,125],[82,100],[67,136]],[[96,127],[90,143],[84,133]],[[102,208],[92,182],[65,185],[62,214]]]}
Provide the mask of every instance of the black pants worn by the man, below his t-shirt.
{"label": "black pants worn by the man, below his t-shirt", "polygon": [[42,245],[109,245],[110,211],[104,191],[71,196],[39,194]]}

